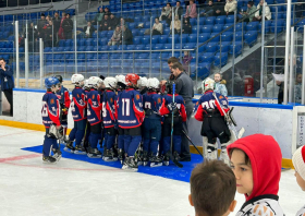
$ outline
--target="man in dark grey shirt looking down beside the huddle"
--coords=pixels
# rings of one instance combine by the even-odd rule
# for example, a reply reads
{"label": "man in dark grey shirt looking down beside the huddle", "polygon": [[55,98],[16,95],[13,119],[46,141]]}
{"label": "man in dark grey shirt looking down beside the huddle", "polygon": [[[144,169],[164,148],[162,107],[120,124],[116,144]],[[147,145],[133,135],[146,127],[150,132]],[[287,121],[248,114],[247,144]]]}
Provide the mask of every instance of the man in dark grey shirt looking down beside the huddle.
{"label": "man in dark grey shirt looking down beside the huddle", "polygon": [[[194,108],[192,101],[194,97],[194,84],[192,79],[183,71],[180,62],[172,63],[170,68],[175,80],[175,93],[181,95],[185,103],[187,120],[183,123],[183,130],[187,133],[187,124]],[[185,135],[182,136],[181,161],[191,161],[188,140]]]}

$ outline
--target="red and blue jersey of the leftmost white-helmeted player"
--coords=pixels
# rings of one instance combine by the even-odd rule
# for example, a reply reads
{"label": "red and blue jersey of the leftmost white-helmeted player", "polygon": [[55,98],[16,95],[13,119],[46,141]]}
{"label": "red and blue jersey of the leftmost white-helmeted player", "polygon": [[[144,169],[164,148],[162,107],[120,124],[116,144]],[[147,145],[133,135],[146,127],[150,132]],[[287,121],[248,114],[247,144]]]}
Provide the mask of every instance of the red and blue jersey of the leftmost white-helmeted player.
{"label": "red and blue jersey of the leftmost white-helmeted player", "polygon": [[86,93],[81,87],[75,87],[72,91],[71,111],[74,121],[81,121],[87,118],[86,115]]}

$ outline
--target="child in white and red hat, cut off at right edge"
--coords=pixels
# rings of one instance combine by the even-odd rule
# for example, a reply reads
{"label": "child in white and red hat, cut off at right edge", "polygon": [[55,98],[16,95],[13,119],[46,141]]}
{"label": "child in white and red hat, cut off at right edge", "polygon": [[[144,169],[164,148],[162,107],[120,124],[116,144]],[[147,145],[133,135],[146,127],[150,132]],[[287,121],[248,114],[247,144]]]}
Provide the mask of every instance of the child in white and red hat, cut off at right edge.
{"label": "child in white and red hat, cut off at right edge", "polygon": [[[293,154],[292,163],[295,168],[296,182],[305,191],[305,146],[296,149]],[[296,216],[305,215],[305,205],[296,213]]]}

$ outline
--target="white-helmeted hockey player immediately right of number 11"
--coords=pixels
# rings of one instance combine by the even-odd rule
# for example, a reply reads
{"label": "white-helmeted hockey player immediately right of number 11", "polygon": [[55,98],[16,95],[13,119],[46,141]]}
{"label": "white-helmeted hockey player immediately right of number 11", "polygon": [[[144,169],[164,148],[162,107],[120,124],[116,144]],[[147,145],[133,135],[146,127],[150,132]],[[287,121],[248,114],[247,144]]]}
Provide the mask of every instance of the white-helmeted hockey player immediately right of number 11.
{"label": "white-helmeted hockey player immediately right of number 11", "polygon": [[159,89],[158,79],[148,79],[148,93],[143,95],[145,120],[143,122],[143,164],[150,167],[162,166],[162,159],[157,155],[159,141],[161,139],[161,116],[162,96],[157,94]]}

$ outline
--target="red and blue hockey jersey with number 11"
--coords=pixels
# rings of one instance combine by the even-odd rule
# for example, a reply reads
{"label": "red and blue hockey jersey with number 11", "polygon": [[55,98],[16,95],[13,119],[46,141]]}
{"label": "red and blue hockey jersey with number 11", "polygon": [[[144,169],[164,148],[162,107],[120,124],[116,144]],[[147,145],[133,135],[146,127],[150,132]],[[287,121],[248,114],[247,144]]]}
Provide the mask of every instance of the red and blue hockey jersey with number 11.
{"label": "red and blue hockey jersey with number 11", "polygon": [[115,117],[122,129],[132,129],[142,124],[144,120],[143,98],[138,91],[129,88],[118,95]]}

